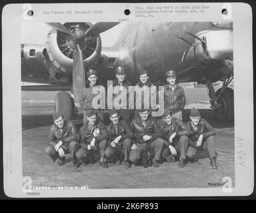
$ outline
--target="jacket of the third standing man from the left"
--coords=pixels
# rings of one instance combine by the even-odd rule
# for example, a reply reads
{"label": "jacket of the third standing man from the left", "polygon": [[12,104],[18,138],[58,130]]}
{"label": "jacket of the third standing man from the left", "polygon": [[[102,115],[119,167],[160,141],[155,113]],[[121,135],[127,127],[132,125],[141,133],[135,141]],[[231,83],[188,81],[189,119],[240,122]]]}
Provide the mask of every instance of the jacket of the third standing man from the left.
{"label": "jacket of the third standing man from the left", "polygon": [[[147,83],[145,84],[145,88],[149,88],[153,87],[155,85],[153,85],[153,83],[151,83],[150,81],[147,81]],[[156,89],[156,93],[151,93],[151,90],[149,91],[149,94],[145,93],[143,91],[143,87],[144,85],[142,85],[141,81],[139,81],[139,83],[137,83],[137,85],[135,85],[134,87],[134,107],[137,108],[137,102],[141,103],[141,108],[147,108],[145,107],[145,103],[144,103],[144,97],[145,95],[147,95],[148,97],[146,97],[146,100],[149,101],[148,102],[148,107],[152,108],[153,106],[151,105],[151,102],[154,104],[158,104],[158,92]],[[141,92],[141,93],[139,93]]]}

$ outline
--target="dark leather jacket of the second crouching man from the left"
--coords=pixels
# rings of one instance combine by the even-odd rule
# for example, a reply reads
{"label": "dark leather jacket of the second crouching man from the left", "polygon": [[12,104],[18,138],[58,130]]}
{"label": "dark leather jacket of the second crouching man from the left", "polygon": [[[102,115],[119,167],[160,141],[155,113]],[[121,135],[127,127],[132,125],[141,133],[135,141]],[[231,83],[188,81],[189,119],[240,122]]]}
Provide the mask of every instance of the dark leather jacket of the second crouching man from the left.
{"label": "dark leather jacket of the second crouching man from the left", "polygon": [[80,136],[80,143],[81,143],[81,148],[84,148],[83,146],[87,147],[88,144],[91,143],[91,140],[95,138],[95,143],[100,142],[101,140],[107,140],[107,132],[105,130],[105,126],[103,122],[98,121],[95,123],[93,126],[93,130],[99,129],[99,136],[93,136],[93,133],[91,132],[91,129],[88,127],[88,120],[81,126],[79,130],[79,136]]}

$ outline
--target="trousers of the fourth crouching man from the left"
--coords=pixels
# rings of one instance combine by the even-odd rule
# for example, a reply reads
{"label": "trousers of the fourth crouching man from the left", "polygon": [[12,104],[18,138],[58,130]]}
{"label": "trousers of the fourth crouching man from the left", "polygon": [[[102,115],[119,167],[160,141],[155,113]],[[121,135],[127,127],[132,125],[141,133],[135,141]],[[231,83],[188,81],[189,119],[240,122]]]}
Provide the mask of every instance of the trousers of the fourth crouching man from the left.
{"label": "trousers of the fourth crouching man from the left", "polygon": [[[162,138],[157,138],[149,145],[149,148],[154,151],[155,160],[160,160],[165,142]],[[137,162],[141,158],[141,152],[147,145],[146,143],[137,143],[138,150],[131,150],[129,154],[129,160],[131,162]]]}

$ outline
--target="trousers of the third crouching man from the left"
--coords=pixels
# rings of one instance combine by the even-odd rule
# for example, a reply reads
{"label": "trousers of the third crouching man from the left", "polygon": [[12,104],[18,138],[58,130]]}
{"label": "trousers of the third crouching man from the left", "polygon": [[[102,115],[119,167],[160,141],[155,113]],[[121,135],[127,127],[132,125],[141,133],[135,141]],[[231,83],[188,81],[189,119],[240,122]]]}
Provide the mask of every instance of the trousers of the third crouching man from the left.
{"label": "trousers of the third crouching man from the left", "polygon": [[[123,153],[124,160],[128,160],[129,152],[131,150],[132,142],[130,138],[125,138],[122,142],[123,148],[113,148],[111,146],[107,146],[105,150],[105,157],[109,160],[115,159],[115,156],[120,155]],[[120,153],[121,152],[121,153]]]}

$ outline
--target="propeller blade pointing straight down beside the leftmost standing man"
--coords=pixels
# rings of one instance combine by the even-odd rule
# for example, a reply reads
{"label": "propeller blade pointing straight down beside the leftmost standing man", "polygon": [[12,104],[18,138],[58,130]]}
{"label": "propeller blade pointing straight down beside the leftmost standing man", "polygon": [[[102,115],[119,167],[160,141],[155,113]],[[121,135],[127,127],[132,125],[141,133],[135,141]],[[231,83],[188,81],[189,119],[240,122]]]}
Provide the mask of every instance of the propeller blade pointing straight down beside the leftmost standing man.
{"label": "propeller blade pointing straight down beside the leftmost standing man", "polygon": [[73,61],[73,93],[75,105],[78,107],[79,97],[83,87],[85,87],[85,66],[83,64],[83,53],[79,47],[79,44],[77,44],[75,47],[75,55]]}

